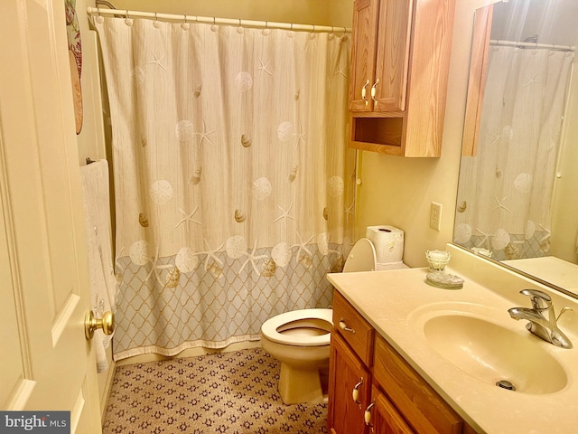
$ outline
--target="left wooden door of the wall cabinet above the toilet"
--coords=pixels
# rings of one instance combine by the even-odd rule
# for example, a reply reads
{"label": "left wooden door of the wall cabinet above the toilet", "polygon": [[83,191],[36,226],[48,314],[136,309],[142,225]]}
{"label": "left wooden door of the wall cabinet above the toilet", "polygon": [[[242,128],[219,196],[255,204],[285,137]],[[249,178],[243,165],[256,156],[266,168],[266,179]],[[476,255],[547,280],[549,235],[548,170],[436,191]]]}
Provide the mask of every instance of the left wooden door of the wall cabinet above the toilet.
{"label": "left wooden door of the wall cabinet above the toilet", "polygon": [[379,0],[355,0],[350,66],[350,110],[371,111],[370,92],[376,61]]}

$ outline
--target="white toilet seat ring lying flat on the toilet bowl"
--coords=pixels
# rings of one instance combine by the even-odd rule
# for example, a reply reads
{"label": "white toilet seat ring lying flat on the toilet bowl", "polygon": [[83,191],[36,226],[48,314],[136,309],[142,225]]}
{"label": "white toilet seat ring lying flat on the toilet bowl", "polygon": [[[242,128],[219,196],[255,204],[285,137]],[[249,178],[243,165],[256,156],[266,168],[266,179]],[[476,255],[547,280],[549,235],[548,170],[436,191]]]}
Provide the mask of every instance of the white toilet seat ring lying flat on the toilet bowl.
{"label": "white toilet seat ring lying flat on the toilet bowl", "polygon": [[278,344],[294,345],[294,346],[322,346],[329,345],[331,342],[331,334],[328,331],[324,335],[291,335],[279,333],[277,330],[283,325],[295,321],[303,321],[304,326],[306,326],[307,320],[311,319],[312,322],[315,320],[317,322],[324,321],[329,323],[328,328],[331,329],[333,325],[333,310],[332,309],[300,309],[291,312],[285,312],[277,316],[273,316],[266,320],[266,322],[261,326],[261,333],[266,336],[270,341],[276,342]]}

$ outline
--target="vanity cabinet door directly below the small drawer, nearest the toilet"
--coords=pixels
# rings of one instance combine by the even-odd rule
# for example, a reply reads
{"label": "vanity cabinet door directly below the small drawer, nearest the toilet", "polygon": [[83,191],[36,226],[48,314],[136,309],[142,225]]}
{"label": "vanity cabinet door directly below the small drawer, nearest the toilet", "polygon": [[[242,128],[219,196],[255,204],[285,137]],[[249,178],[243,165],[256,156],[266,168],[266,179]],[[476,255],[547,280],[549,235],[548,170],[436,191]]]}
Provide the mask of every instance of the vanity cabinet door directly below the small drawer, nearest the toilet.
{"label": "vanity cabinet door directly below the small drawer, nearest the toilet", "polygon": [[[331,334],[328,428],[332,434],[363,434],[371,376],[348,344]],[[353,391],[357,387],[357,402]]]}

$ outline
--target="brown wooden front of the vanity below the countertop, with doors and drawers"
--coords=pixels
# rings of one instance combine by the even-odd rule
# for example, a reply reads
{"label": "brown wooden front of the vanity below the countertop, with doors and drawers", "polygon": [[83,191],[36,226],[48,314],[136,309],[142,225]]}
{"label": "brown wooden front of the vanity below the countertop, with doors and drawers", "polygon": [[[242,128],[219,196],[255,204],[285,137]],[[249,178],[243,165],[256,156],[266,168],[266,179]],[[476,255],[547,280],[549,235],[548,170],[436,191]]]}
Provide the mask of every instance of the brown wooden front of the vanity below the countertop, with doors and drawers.
{"label": "brown wooden front of the vanity below the countertop, with doors and drawers", "polygon": [[338,291],[333,325],[331,434],[475,432]]}

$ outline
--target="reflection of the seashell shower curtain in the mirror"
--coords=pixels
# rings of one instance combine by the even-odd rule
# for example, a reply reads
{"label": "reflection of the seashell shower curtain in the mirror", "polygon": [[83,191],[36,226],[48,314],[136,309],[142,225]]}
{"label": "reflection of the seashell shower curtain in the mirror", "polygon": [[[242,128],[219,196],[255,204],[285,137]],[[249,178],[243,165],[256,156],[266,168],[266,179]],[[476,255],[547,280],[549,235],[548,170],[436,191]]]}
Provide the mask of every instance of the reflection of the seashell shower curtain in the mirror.
{"label": "reflection of the seashell shower curtain in the mirror", "polygon": [[478,155],[461,158],[454,241],[495,259],[550,249],[550,206],[573,52],[492,46]]}

